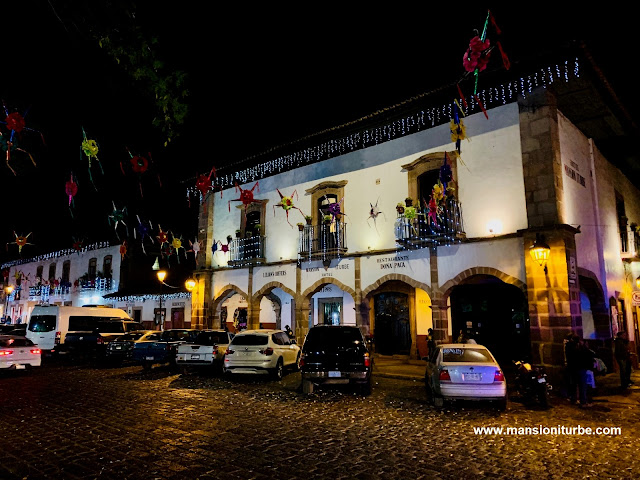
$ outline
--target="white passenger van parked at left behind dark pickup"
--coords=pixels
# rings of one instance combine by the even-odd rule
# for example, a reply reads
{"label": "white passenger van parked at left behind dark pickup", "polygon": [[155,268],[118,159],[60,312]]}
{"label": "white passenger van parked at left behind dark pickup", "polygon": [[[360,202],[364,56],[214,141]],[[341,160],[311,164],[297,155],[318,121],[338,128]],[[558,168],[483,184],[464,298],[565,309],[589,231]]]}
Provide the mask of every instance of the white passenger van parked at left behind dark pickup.
{"label": "white passenger van parked at left behind dark pickup", "polygon": [[38,305],[29,317],[26,336],[42,353],[58,352],[64,350],[68,332],[92,331],[98,322],[111,318],[131,320],[120,308]]}

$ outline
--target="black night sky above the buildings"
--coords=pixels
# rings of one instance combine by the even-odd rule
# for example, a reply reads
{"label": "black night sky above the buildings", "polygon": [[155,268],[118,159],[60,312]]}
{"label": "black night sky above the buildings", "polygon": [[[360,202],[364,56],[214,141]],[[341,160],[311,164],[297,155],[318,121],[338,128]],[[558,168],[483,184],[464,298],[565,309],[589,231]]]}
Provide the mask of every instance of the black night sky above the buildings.
{"label": "black night sky above the buildings", "polygon": [[[185,242],[195,238],[197,199],[189,206],[186,188],[197,174],[214,166],[228,173],[271,147],[455,82],[473,29],[481,29],[487,15],[486,5],[451,5],[448,13],[427,5],[376,10],[372,4],[351,11],[323,4],[299,11],[271,4],[201,11],[200,2],[171,9],[146,2],[146,9],[137,10],[137,24],[158,38],[169,66],[189,75],[187,122],[164,147],[151,125],[152,99],[74,27],[75,6],[87,2],[15,3],[3,11],[0,94],[9,110],[26,111],[27,127],[37,130],[25,132],[21,143],[37,166],[20,152],[11,162],[17,176],[4,162],[0,166],[0,242],[14,241],[14,231],[31,232],[33,245],[24,247],[22,257],[71,248],[74,240],[118,242],[108,222],[112,202],[127,207],[130,233],[139,215]],[[127,2],[87,5],[98,3],[116,8]],[[554,9],[557,16],[547,18],[553,7],[534,5],[539,11],[492,9],[502,33],[490,29],[489,38],[501,41],[512,63],[557,42],[585,40],[636,115],[632,16]],[[491,65],[500,67],[497,54]],[[80,152],[83,128],[100,147],[104,174],[94,161],[95,187]],[[127,148],[151,154],[142,194]],[[79,190],[71,212],[64,187],[72,171]],[[0,261],[18,258],[15,244],[0,252]]]}

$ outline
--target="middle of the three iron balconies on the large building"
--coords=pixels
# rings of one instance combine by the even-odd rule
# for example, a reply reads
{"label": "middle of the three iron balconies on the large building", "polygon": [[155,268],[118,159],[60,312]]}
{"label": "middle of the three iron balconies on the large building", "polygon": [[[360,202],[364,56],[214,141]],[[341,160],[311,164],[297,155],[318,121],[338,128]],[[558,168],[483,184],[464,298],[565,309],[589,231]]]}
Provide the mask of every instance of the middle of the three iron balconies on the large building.
{"label": "middle of the three iron balconies on the large building", "polygon": [[347,252],[347,224],[341,221],[305,225],[300,231],[298,253],[306,260],[331,260]]}

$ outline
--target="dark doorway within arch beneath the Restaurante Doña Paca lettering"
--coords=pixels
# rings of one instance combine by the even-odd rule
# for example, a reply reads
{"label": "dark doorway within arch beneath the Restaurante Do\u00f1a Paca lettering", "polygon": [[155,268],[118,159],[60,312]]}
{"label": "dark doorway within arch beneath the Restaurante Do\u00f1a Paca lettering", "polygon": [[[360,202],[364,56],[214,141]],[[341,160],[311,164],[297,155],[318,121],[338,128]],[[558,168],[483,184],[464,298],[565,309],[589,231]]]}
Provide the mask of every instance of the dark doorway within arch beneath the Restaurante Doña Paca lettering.
{"label": "dark doorway within arch beneath the Restaurante Do\u00f1a Paca lettering", "polygon": [[374,342],[381,355],[409,355],[411,324],[409,296],[388,292],[374,296]]}

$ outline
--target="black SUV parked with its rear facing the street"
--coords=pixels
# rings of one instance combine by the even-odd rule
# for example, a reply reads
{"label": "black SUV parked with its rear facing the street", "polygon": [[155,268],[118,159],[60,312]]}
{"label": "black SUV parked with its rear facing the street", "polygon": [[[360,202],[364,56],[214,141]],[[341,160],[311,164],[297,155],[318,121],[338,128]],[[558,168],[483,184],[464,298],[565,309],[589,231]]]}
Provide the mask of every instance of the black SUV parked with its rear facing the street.
{"label": "black SUV parked with its rear facing the street", "polygon": [[312,393],[314,385],[351,384],[368,395],[372,363],[358,327],[317,325],[309,330],[302,347],[302,392]]}

